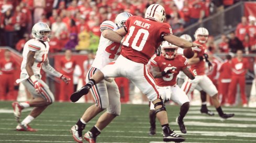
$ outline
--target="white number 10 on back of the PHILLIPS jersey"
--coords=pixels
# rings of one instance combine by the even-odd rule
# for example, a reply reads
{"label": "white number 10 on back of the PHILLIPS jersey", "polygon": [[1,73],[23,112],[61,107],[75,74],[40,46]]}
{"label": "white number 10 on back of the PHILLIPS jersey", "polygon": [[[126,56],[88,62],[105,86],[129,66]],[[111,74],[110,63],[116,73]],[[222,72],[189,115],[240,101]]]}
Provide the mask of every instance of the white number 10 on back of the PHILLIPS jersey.
{"label": "white number 10 on back of the PHILLIPS jersey", "polygon": [[[130,29],[129,29],[129,34],[128,36],[126,37],[123,45],[129,47],[129,40],[133,34],[135,30],[135,27],[134,26],[131,26]],[[143,37],[142,39],[140,38],[141,37],[141,34],[143,34]],[[136,33],[132,43],[131,43],[131,47],[137,51],[141,51],[144,47],[144,45],[146,44],[146,41],[148,40],[148,36],[149,36],[149,31],[146,30],[146,29],[139,29],[138,32]],[[140,42],[139,44],[137,44],[138,42]],[[139,45],[139,46],[137,46]]]}

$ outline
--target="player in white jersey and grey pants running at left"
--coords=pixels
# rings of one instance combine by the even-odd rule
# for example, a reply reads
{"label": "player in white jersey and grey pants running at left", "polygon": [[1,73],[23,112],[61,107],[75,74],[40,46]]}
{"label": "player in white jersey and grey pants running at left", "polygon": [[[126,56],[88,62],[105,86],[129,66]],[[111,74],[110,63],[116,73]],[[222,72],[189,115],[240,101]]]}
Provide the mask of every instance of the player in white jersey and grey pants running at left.
{"label": "player in white jersey and grey pants running at left", "polygon": [[[49,38],[51,29],[46,23],[38,22],[32,28],[34,38],[26,42],[23,50],[23,61],[21,63],[20,79],[17,83],[23,83],[24,86],[33,95],[33,99],[26,102],[13,102],[14,116],[19,123],[17,131],[36,131],[28,124],[42,113],[54,101],[48,85],[41,79],[40,71],[59,77],[66,84],[70,78],[52,68],[49,64],[47,54],[49,51]],[[20,123],[21,110],[28,107],[34,107],[30,114]]]}

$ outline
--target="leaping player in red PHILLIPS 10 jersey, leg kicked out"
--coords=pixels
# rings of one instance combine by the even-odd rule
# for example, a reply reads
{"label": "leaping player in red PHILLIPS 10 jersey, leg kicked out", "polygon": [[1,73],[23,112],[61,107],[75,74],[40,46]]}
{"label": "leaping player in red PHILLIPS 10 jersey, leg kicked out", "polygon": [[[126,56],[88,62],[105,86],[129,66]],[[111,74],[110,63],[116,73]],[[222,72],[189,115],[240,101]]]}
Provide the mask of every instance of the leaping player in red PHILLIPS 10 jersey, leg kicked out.
{"label": "leaping player in red PHILLIPS 10 jersey, leg kicked out", "polygon": [[[96,72],[84,87],[71,95],[70,99],[72,102],[79,100],[93,85],[105,78],[128,77],[153,102],[162,125],[163,141],[182,142],[185,138],[175,134],[169,127],[166,109],[146,64],[164,40],[181,48],[201,45],[174,36],[170,25],[163,23],[164,19],[164,8],[159,4],[152,4],[147,8],[145,18],[133,16],[127,19],[124,28],[115,32],[103,31],[104,37],[123,43],[121,55],[116,61],[110,62],[101,71]],[[122,36],[125,36],[124,39]]]}

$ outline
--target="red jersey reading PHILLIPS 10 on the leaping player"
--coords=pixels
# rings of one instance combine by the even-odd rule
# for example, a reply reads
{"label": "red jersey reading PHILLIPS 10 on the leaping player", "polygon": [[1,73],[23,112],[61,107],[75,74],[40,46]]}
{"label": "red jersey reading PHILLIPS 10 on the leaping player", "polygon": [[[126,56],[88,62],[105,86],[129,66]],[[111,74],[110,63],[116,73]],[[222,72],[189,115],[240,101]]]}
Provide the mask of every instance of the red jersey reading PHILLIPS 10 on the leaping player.
{"label": "red jersey reading PHILLIPS 10 on the leaping player", "polygon": [[147,64],[159,47],[163,36],[172,34],[169,24],[132,16],[125,23],[127,34],[121,55],[135,62]]}

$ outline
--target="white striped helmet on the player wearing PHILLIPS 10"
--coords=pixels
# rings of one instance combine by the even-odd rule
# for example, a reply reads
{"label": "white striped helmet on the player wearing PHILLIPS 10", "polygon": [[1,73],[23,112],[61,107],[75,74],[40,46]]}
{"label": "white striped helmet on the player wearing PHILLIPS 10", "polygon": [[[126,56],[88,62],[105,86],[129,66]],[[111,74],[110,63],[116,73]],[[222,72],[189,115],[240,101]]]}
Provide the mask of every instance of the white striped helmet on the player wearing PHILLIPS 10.
{"label": "white striped helmet on the player wearing PHILLIPS 10", "polygon": [[163,22],[165,19],[165,10],[159,4],[152,4],[147,8],[145,18]]}

